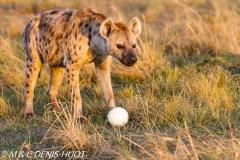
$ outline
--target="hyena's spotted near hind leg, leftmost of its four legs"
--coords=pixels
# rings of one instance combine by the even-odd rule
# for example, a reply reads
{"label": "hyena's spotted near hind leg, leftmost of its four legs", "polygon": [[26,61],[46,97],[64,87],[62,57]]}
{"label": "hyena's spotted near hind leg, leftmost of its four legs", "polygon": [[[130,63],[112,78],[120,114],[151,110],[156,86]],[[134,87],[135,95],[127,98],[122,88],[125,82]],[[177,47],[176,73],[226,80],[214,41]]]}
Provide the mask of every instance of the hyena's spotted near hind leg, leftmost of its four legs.
{"label": "hyena's spotted near hind leg, leftmost of its four legs", "polygon": [[33,111],[33,97],[34,97],[34,87],[38,79],[39,72],[42,68],[42,62],[38,53],[32,54],[36,57],[27,57],[27,68],[26,68],[26,88],[25,88],[25,109],[24,118],[27,119],[32,117]]}

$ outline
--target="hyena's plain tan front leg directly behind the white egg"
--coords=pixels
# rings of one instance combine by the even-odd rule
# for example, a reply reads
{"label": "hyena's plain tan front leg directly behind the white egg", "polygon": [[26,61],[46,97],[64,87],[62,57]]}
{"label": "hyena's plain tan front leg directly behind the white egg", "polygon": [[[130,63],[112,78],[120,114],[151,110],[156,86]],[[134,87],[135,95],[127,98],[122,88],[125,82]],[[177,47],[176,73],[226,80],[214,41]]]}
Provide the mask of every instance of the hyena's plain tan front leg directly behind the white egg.
{"label": "hyena's plain tan front leg directly behind the white egg", "polygon": [[110,56],[108,56],[108,58],[101,64],[95,63],[97,79],[99,81],[107,108],[109,110],[116,107],[110,77],[110,63]]}

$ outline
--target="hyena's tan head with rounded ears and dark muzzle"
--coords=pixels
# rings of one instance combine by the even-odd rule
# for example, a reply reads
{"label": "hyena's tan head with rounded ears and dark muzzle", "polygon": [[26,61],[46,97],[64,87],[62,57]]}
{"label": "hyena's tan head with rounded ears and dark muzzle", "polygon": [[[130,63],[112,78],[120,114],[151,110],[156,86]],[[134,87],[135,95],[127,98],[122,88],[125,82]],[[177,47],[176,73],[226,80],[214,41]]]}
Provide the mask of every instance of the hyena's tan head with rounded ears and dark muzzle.
{"label": "hyena's tan head with rounded ears and dark muzzle", "polygon": [[114,23],[111,18],[108,18],[100,27],[100,34],[106,39],[109,54],[126,66],[133,66],[137,62],[135,50],[140,33],[141,24],[136,17],[128,26],[123,23]]}

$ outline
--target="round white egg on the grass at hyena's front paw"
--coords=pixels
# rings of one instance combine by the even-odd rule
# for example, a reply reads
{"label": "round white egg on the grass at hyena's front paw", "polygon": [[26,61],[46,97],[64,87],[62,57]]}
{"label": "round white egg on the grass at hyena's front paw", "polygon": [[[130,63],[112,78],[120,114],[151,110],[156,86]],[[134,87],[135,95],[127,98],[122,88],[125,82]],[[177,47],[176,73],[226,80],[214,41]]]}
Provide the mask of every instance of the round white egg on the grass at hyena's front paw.
{"label": "round white egg on the grass at hyena's front paw", "polygon": [[112,126],[121,127],[128,122],[128,113],[122,107],[115,107],[108,113],[108,122]]}

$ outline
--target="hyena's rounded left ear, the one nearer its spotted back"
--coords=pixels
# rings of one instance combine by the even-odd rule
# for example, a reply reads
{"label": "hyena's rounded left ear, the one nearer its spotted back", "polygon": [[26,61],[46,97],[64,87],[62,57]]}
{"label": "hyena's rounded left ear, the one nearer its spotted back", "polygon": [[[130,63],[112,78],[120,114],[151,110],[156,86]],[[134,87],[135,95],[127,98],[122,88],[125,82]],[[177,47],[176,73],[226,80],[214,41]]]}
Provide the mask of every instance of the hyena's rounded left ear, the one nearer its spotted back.
{"label": "hyena's rounded left ear, the one nearer its spotted back", "polygon": [[116,26],[111,18],[106,19],[101,27],[100,27],[100,34],[103,36],[105,39],[108,38],[110,33],[116,29]]}

